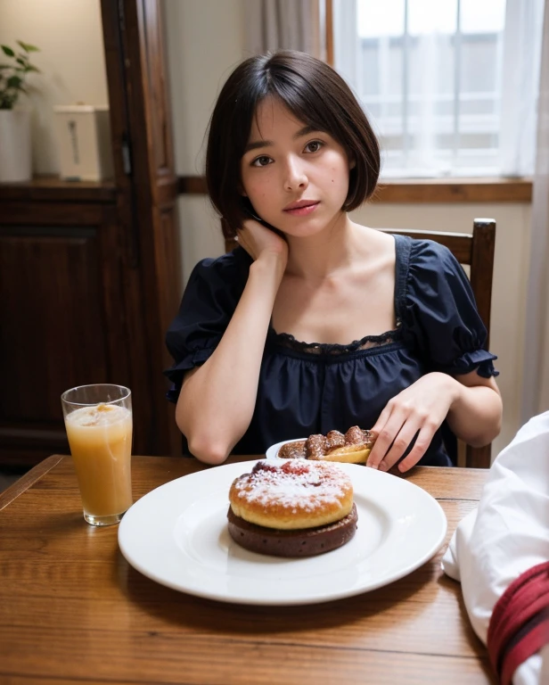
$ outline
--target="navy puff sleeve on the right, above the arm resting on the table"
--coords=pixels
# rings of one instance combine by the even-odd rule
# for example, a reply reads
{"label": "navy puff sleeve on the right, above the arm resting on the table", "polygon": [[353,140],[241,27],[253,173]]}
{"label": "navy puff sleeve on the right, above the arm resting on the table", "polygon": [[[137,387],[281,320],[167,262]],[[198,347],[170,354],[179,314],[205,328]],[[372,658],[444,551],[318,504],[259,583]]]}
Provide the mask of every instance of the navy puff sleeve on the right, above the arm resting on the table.
{"label": "navy puff sleeve on the right, above the arm resting on the table", "polygon": [[484,349],[487,330],[461,264],[430,240],[410,240],[409,249],[401,316],[426,366],[453,376],[475,369],[484,378],[497,376],[497,358]]}

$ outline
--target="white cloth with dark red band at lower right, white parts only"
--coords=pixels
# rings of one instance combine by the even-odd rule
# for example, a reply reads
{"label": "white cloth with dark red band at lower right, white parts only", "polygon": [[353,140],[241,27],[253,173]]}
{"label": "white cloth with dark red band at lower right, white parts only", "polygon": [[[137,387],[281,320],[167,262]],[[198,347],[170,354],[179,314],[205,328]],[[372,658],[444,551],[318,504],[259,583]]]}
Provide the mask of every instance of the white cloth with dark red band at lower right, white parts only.
{"label": "white cloth with dark red band at lower right, white parts only", "polygon": [[[490,616],[504,590],[548,559],[549,411],[524,425],[496,458],[479,508],[458,524],[442,566],[461,581],[473,630],[486,644]],[[541,669],[542,656],[532,656],[517,669],[514,685],[541,685]]]}

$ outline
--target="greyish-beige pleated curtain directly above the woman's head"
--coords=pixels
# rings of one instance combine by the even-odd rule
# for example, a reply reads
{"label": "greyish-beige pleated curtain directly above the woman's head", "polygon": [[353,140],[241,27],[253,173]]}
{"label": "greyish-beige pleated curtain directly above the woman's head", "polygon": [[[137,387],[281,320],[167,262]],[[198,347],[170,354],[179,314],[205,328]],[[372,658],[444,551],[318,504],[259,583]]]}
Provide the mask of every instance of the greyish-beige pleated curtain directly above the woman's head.
{"label": "greyish-beige pleated curtain directly above the woman's head", "polygon": [[283,49],[324,59],[323,9],[321,0],[245,0],[246,56]]}

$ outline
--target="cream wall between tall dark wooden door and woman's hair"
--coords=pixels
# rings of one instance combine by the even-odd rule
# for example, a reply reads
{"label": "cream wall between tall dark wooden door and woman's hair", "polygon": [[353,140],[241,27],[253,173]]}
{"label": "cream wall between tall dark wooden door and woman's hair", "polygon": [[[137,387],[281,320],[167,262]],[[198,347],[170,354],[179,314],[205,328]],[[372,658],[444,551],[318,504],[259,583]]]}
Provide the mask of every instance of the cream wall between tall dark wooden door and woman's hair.
{"label": "cream wall between tall dark wooden door and woman's hair", "polygon": [[[206,128],[217,93],[242,60],[242,0],[164,0],[176,172],[202,176]],[[182,196],[184,280],[194,264],[221,254],[219,219],[206,198]]]}

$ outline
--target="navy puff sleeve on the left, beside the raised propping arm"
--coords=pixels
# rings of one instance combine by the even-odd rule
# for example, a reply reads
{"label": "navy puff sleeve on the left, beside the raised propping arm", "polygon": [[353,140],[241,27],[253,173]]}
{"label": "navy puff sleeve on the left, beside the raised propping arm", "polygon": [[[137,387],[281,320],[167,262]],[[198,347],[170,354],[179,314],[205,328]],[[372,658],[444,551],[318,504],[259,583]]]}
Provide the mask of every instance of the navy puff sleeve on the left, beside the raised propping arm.
{"label": "navy puff sleeve on the left, beside the raised propping arm", "polygon": [[176,402],[184,373],[203,364],[221,340],[240,300],[250,258],[237,248],[217,259],[201,260],[194,268],[183,299],[166,334],[174,364],[164,371],[173,386],[168,400]]}

